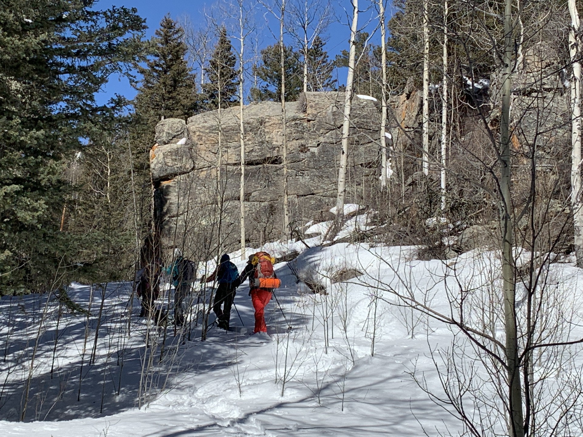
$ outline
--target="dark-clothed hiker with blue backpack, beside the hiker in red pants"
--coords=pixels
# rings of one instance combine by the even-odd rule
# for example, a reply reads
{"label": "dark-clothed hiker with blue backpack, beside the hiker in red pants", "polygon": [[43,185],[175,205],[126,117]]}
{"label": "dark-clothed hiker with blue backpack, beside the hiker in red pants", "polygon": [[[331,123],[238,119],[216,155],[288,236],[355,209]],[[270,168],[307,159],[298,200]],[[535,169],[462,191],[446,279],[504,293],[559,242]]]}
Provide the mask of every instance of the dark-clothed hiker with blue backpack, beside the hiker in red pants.
{"label": "dark-clothed hiker with blue backpack, beside the hiker in red pants", "polygon": [[[233,306],[233,299],[235,298],[234,281],[239,276],[237,266],[234,265],[226,253],[220,257],[219,266],[215,269],[207,279],[206,282],[217,281],[217,291],[213,301],[213,311],[217,316],[217,325],[229,330],[229,322],[231,319],[231,306]],[[221,309],[221,305],[223,308]]]}

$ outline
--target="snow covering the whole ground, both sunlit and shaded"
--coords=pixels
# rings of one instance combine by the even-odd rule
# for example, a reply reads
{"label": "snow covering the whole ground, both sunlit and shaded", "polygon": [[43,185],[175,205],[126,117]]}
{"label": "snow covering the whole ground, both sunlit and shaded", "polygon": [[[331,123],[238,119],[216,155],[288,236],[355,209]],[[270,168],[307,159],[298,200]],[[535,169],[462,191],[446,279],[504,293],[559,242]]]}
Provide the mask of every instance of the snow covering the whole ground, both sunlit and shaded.
{"label": "snow covering the whole ground, both sunlit and shaded", "polygon": [[[193,317],[185,332],[175,334],[171,327],[164,330],[138,318],[139,303],[131,299],[128,283],[106,288],[72,284],[68,296],[83,309],[90,305],[89,316],[72,312],[54,296],[48,304],[47,295],[2,298],[0,435],[418,436],[423,430],[429,435],[461,431],[456,418],[437,406],[413,376],[441,394],[431,351],[451,349],[454,340],[463,346],[465,340],[456,328],[394,305],[403,302],[392,291],[445,316],[456,311],[452,297],[466,293],[468,323],[482,317],[480,323],[502,339],[502,315],[489,319],[482,311],[470,311],[486,302],[496,310],[496,298],[487,301],[500,283],[496,253],[419,261],[413,247],[312,246],[318,237],[306,242],[310,248],[302,243],[264,247],[276,256],[299,252],[275,266],[282,288],[266,309],[271,341],[245,334],[252,330],[253,308],[244,286],[231,312],[238,331],[213,326],[206,341],[200,340],[200,319]],[[232,258],[241,270],[240,253]],[[571,319],[579,323],[561,338],[581,337],[580,270],[556,263],[548,273],[547,282],[554,284],[549,288],[563,296],[554,305],[570,309]],[[311,281],[327,294],[312,293],[306,284]],[[203,300],[195,298],[193,308],[206,308]],[[213,319],[211,312],[209,322]],[[578,346],[570,352],[574,368],[581,368]],[[27,386],[26,421],[17,422]]]}

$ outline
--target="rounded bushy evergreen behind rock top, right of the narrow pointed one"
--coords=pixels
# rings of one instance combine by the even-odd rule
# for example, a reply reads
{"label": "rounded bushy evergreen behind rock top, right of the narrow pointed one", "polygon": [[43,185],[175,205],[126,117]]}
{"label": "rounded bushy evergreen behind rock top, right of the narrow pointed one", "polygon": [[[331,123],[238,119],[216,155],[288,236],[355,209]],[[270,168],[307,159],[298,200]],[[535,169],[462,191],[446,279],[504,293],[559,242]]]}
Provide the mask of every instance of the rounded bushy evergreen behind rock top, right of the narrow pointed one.
{"label": "rounded bushy evergreen behind rock top, right of the narrow pointed one", "polygon": [[[261,50],[261,64],[253,67],[253,72],[262,84],[251,89],[254,100],[280,101],[282,94],[282,68],[279,44],[269,45]],[[286,101],[297,100],[303,89],[303,68],[300,55],[289,45],[283,47],[283,65],[286,76]]]}

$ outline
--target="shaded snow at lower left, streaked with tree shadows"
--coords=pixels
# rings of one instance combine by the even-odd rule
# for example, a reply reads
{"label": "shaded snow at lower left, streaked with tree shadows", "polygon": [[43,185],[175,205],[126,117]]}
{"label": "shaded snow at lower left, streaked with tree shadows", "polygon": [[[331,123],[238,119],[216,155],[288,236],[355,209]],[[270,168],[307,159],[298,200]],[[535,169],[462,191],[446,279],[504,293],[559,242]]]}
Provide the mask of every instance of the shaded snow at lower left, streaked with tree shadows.
{"label": "shaded snow at lower left, streaked with tree shadows", "polygon": [[[89,287],[70,294],[87,308]],[[105,296],[101,308],[100,294],[94,295],[89,318],[66,311],[54,297],[40,318],[47,295],[0,299],[0,420],[20,420],[27,387],[26,421],[103,417],[156,399],[188,373],[230,365],[227,347],[187,341],[172,327],[164,339],[163,327],[137,318],[138,299],[132,308],[128,305],[131,285],[114,284]],[[129,331],[128,312],[134,314]],[[200,333],[200,327],[192,332],[196,339]],[[146,336],[149,345],[157,339],[157,347],[146,347]]]}

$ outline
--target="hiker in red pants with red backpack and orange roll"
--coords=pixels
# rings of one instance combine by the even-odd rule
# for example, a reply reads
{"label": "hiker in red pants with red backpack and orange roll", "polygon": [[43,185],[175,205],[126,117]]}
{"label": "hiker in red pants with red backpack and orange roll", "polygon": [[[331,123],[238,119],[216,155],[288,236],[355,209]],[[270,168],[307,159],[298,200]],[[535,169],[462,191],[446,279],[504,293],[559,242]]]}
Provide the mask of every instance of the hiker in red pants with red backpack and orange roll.
{"label": "hiker in red pants with red backpack and orange roll", "polygon": [[245,279],[249,279],[249,295],[255,308],[255,330],[257,332],[267,332],[265,325],[265,305],[271,300],[271,293],[273,288],[259,288],[257,287],[257,280],[259,277],[276,278],[273,272],[273,262],[275,259],[266,252],[257,252],[249,257],[247,266],[239,277],[233,283],[235,288],[241,285]]}

